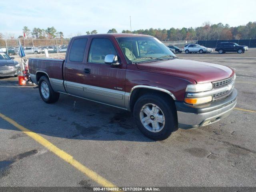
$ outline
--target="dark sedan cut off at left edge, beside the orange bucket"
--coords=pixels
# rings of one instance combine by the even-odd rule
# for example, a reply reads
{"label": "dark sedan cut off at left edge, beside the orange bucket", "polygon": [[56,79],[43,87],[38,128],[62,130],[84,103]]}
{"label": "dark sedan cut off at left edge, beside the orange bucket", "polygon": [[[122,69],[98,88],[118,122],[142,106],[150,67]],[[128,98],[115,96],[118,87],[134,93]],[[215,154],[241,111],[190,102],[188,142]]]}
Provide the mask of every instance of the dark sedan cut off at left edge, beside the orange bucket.
{"label": "dark sedan cut off at left edge, beside the orange bucket", "polygon": [[17,76],[20,74],[20,64],[4,52],[0,52],[0,77]]}

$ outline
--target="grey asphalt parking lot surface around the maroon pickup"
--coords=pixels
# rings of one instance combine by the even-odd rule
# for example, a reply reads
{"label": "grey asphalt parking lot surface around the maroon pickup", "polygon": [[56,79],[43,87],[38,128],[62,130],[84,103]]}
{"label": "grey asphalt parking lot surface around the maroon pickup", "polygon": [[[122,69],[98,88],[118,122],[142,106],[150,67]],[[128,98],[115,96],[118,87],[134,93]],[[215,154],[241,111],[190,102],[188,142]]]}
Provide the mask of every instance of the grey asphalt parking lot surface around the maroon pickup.
{"label": "grey asphalt parking lot surface around the maroon pickup", "polygon": [[[234,68],[230,116],[156,142],[129,112],[67,95],[46,104],[17,78],[0,78],[0,113],[116,186],[256,186],[256,48],[177,56]],[[0,186],[100,186],[2,118],[0,146]]]}

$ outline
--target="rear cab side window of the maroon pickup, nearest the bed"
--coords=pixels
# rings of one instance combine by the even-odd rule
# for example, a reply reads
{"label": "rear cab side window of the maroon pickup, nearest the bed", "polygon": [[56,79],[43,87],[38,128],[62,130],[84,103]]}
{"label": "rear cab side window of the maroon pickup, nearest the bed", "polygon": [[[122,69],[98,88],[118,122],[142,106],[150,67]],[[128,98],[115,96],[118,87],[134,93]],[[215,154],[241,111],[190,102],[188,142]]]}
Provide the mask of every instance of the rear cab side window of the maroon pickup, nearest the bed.
{"label": "rear cab side window of the maroon pickup, nearest the bed", "polygon": [[84,59],[84,50],[86,47],[86,38],[75,39],[72,43],[69,60],[75,62],[82,62]]}

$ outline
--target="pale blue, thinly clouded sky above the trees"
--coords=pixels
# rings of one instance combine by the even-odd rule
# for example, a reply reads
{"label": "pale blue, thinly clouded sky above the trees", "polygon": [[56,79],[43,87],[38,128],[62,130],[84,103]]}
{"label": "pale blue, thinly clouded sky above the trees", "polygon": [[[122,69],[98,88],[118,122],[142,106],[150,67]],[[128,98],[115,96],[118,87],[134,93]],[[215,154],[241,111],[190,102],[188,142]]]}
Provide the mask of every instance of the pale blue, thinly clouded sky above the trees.
{"label": "pale blue, thinly clouded sky above the trees", "polygon": [[[106,33],[148,28],[212,24],[245,25],[256,21],[256,0],[0,0],[0,32],[23,35],[23,26],[54,26],[65,38],[96,29]],[[10,3],[11,2],[11,3]]]}

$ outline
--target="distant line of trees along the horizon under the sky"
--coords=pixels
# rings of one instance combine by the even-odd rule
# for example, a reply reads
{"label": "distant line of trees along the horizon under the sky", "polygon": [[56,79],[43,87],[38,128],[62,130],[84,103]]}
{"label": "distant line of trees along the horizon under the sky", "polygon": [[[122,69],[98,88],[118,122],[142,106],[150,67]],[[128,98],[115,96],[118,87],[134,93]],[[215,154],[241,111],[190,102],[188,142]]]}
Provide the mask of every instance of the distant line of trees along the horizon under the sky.
{"label": "distant line of trees along the horizon under the sky", "polygon": [[[30,30],[24,26],[22,31],[27,38],[63,38],[63,32],[57,32],[54,27],[47,29],[33,28]],[[97,30],[86,31],[85,34],[97,34]],[[115,28],[108,30],[107,33],[117,33]],[[122,30],[122,33],[131,33],[130,30]],[[231,40],[231,39],[256,39],[256,22],[248,22],[246,25],[230,27],[228,24],[211,24],[204,22],[202,26],[196,28],[170,28],[170,29],[139,29],[132,31],[134,34],[146,34],[158,38],[161,41],[175,41],[175,40]],[[77,35],[83,35],[78,33]],[[0,38],[4,35],[0,33]],[[10,36],[14,38],[14,36]],[[23,38],[19,36],[18,38]]]}

